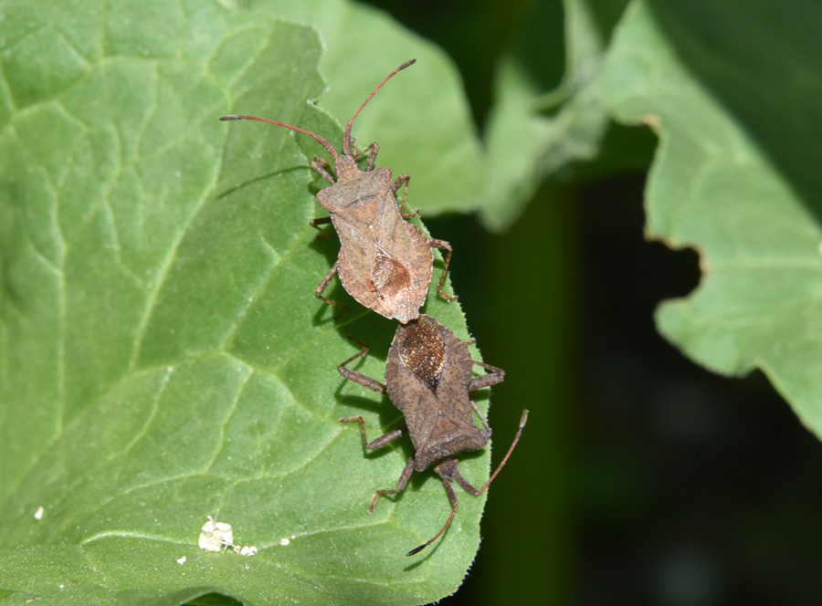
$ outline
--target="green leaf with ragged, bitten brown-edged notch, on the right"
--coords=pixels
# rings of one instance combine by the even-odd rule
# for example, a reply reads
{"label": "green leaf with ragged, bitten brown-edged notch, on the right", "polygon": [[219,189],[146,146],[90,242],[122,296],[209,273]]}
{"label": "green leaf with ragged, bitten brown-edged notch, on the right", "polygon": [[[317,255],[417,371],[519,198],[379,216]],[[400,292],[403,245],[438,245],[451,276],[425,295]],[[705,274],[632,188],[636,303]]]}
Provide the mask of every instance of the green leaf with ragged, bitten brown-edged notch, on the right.
{"label": "green leaf with ragged, bitten brown-edged notch, on the right", "polygon": [[602,75],[621,120],[659,133],[648,233],[703,277],[659,329],[727,374],[762,369],[822,436],[822,6],[637,2]]}

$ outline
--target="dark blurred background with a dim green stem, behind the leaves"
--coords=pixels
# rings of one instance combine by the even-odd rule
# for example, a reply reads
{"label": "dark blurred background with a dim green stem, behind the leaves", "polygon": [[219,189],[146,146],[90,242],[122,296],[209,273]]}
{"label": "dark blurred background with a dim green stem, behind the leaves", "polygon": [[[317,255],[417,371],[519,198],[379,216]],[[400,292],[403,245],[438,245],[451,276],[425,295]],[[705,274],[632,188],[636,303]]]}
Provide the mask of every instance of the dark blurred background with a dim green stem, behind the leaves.
{"label": "dark blurred background with a dim green stem, behind the leaves", "polygon": [[[562,77],[560,2],[368,4],[448,52],[480,132],[495,68],[534,11],[556,16],[538,57],[546,89]],[[641,143],[648,165],[656,140]],[[644,239],[644,179],[553,179],[501,234],[426,217],[458,251],[451,277],[484,359],[507,372],[490,412],[495,461],[532,411],[490,490],[478,559],[441,603],[822,600],[822,449],[763,375],[711,374],[659,336],[654,308],[700,271],[694,252]]]}

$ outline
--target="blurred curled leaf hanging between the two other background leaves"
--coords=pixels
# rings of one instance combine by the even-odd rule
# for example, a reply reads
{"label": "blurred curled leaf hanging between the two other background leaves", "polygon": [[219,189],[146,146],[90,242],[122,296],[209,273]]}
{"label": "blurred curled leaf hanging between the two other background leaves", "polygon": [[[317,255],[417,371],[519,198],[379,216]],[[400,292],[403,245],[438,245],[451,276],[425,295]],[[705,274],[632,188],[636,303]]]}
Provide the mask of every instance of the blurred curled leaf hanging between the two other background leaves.
{"label": "blurred curled leaf hanging between the two other background leaves", "polygon": [[[567,181],[580,162],[598,158],[597,172],[644,162],[642,141],[614,129],[594,85],[611,30],[626,4],[627,0],[532,3],[494,87],[480,209],[483,223],[491,229],[509,227],[544,179]],[[603,146],[612,148],[615,137],[618,153],[604,158]]]}

